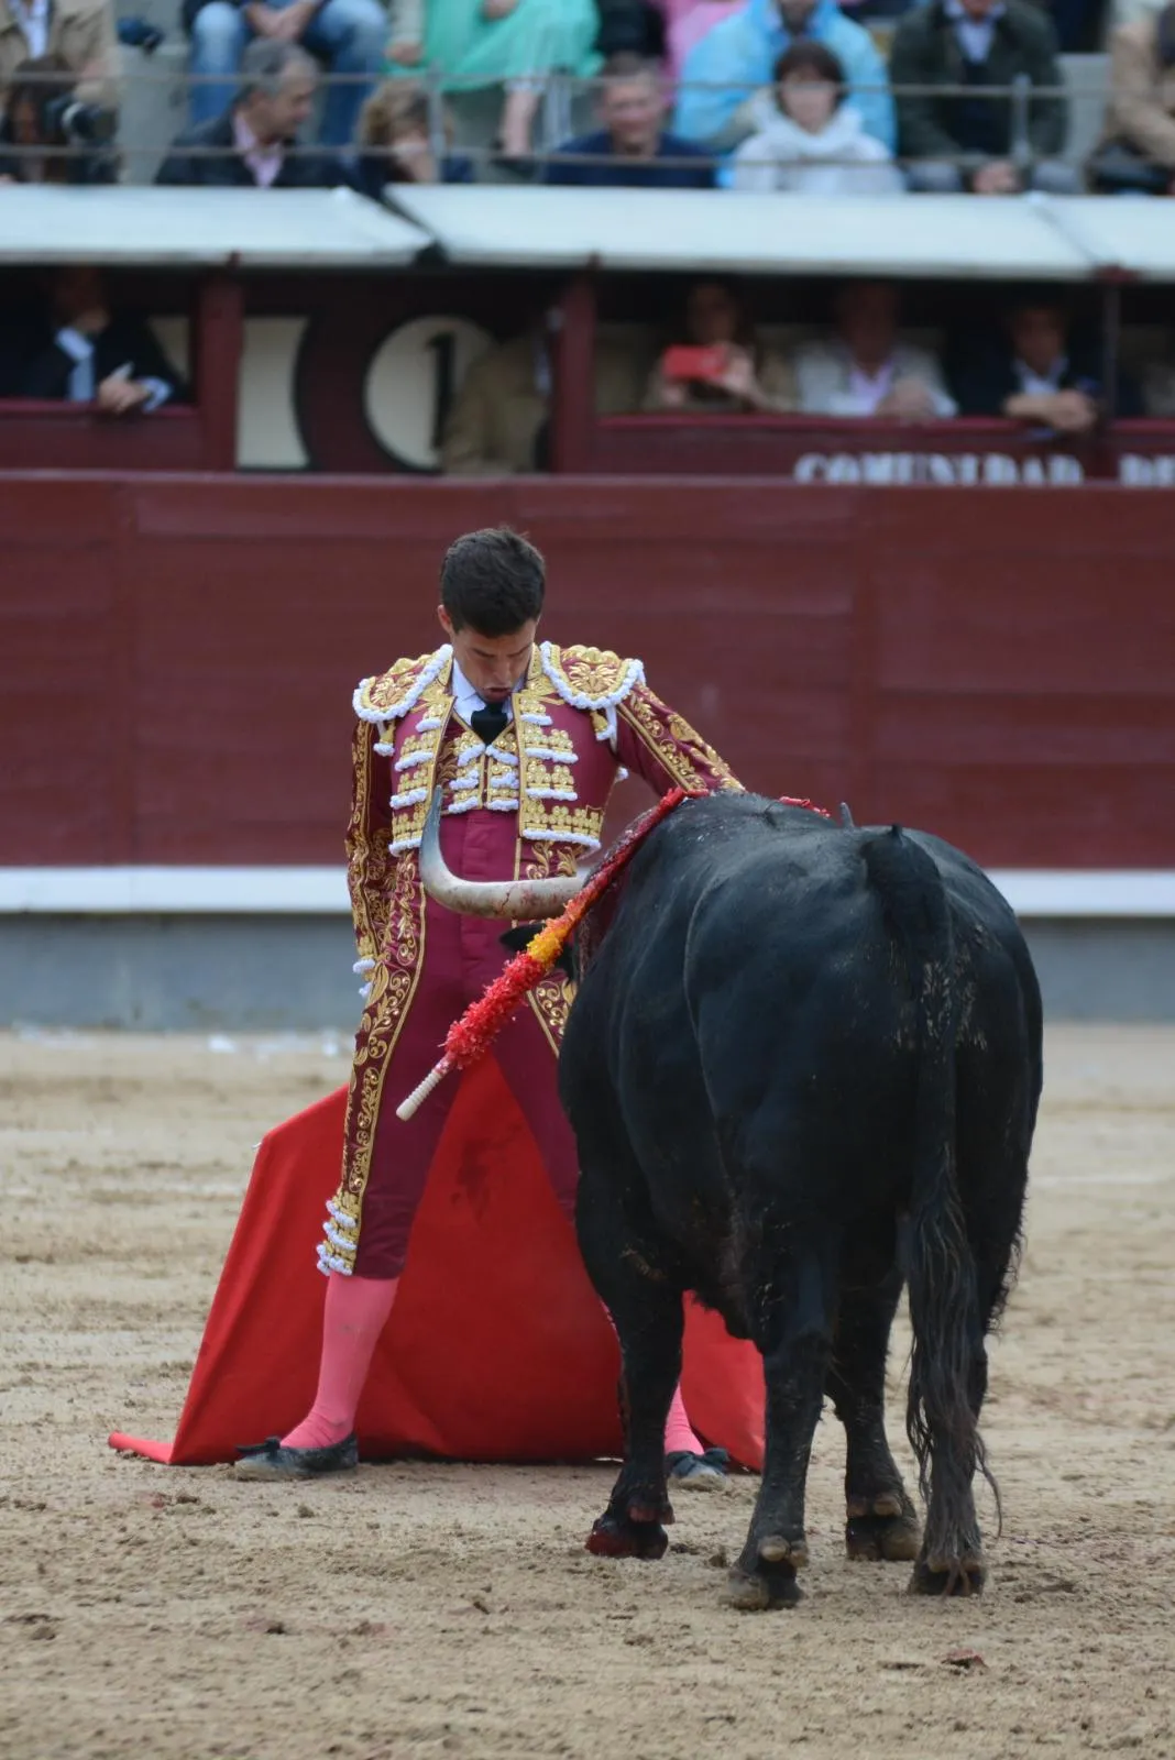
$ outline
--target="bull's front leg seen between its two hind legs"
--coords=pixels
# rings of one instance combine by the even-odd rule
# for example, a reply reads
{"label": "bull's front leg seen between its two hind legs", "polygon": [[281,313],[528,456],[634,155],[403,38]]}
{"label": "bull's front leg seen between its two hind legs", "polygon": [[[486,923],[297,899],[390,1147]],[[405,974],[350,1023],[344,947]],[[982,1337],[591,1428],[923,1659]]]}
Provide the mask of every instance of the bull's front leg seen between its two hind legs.
{"label": "bull's front leg seen between its two hind legs", "polygon": [[[888,1260],[888,1264],[887,1264]],[[827,1394],[844,1426],[844,1545],[853,1559],[913,1559],[922,1531],[885,1436],[885,1359],[902,1274],[872,1236],[841,1272]]]}

